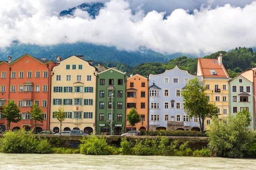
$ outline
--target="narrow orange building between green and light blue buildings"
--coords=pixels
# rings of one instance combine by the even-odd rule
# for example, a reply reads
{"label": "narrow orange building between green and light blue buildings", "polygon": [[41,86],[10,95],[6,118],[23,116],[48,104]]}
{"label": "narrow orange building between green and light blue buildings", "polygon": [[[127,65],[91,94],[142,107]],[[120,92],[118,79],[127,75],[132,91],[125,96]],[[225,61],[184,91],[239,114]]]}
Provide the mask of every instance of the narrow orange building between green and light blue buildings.
{"label": "narrow orange building between green and light blue buildings", "polygon": [[137,123],[133,130],[148,130],[148,79],[135,74],[129,77],[126,82],[126,111],[125,127],[126,132],[131,130],[129,122],[126,120],[127,114],[131,108],[136,108],[140,114],[140,122]]}

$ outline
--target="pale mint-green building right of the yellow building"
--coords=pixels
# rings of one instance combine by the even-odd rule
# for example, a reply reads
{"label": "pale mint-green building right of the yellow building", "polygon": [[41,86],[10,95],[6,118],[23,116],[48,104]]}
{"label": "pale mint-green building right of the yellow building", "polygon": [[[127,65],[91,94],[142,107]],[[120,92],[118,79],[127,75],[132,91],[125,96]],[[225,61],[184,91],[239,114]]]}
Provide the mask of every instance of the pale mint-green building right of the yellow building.
{"label": "pale mint-green building right of the yellow building", "polygon": [[254,129],[253,96],[250,95],[253,94],[253,82],[239,74],[230,80],[229,85],[230,113],[236,115],[237,112],[242,111],[244,108],[250,112],[252,117],[249,128]]}

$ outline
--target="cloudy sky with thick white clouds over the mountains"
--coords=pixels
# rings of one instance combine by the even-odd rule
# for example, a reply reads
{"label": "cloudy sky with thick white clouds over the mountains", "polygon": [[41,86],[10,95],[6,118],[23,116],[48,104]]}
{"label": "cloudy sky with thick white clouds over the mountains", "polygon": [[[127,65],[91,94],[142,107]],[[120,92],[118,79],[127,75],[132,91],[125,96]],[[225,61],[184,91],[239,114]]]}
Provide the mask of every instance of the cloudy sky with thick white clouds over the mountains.
{"label": "cloudy sky with thick white clouds over the mountains", "polygon": [[[58,17],[60,11],[90,2],[106,3],[95,19],[79,9],[74,17]],[[38,45],[79,41],[127,51],[145,47],[163,54],[254,47],[256,1],[0,0],[0,47],[13,40]]]}

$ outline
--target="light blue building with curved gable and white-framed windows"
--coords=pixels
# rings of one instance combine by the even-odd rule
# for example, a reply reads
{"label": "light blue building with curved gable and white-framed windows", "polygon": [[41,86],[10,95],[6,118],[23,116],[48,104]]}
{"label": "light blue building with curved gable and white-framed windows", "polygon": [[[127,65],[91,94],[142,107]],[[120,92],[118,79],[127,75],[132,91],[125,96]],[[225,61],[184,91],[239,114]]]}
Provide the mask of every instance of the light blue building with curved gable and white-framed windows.
{"label": "light blue building with curved gable and white-framed windows", "polygon": [[180,91],[185,88],[189,79],[197,77],[188,71],[176,67],[162,74],[149,75],[148,119],[149,130],[198,130],[197,117],[189,119],[183,110],[183,97]]}

